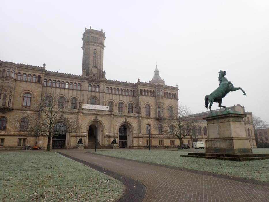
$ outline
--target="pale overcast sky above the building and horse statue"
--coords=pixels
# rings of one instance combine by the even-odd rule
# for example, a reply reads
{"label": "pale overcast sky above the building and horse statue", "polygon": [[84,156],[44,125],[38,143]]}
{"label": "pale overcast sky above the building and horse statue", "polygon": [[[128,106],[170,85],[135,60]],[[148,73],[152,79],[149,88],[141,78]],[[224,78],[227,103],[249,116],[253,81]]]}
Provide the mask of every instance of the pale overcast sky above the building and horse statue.
{"label": "pale overcast sky above the building and horse statue", "polygon": [[[179,102],[206,111],[219,70],[240,104],[269,123],[269,1],[1,1],[0,59],[81,75],[85,27],[106,32],[106,78],[148,82],[155,66]],[[212,109],[218,109],[214,103]]]}

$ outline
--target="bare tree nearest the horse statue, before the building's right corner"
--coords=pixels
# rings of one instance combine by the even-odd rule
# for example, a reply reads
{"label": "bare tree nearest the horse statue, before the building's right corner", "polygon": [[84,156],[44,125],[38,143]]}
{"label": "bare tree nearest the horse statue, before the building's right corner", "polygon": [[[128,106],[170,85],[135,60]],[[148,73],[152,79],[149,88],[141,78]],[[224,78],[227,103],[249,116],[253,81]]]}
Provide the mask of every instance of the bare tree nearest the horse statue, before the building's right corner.
{"label": "bare tree nearest the horse statue, before the building's right corner", "polygon": [[180,149],[182,149],[182,139],[191,136],[192,127],[196,125],[189,108],[182,104],[178,104],[178,109],[163,123],[163,132],[177,137]]}

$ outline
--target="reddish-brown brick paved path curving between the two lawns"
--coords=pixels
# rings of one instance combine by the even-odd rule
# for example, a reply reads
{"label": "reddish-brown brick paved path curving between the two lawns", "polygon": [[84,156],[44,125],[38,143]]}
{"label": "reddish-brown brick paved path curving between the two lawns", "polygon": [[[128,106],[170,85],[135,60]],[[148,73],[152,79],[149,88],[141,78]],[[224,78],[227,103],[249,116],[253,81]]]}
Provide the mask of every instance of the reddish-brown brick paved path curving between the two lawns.
{"label": "reddish-brown brick paved path curving between the two lawns", "polygon": [[[266,182],[188,172],[176,167],[87,153],[89,150],[63,149],[58,152],[130,177],[146,187],[146,194],[142,194],[144,199],[121,201],[269,201],[269,183]],[[143,192],[143,188],[140,189]]]}

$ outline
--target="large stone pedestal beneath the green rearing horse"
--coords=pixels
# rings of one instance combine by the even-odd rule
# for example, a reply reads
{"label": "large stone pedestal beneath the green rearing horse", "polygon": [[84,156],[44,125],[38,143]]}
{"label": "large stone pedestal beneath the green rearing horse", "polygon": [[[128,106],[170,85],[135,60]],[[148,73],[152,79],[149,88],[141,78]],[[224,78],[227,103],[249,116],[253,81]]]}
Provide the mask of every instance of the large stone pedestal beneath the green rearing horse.
{"label": "large stone pedestal beneath the green rearing horse", "polygon": [[252,154],[243,122],[246,116],[224,111],[204,118],[208,126],[206,153]]}

